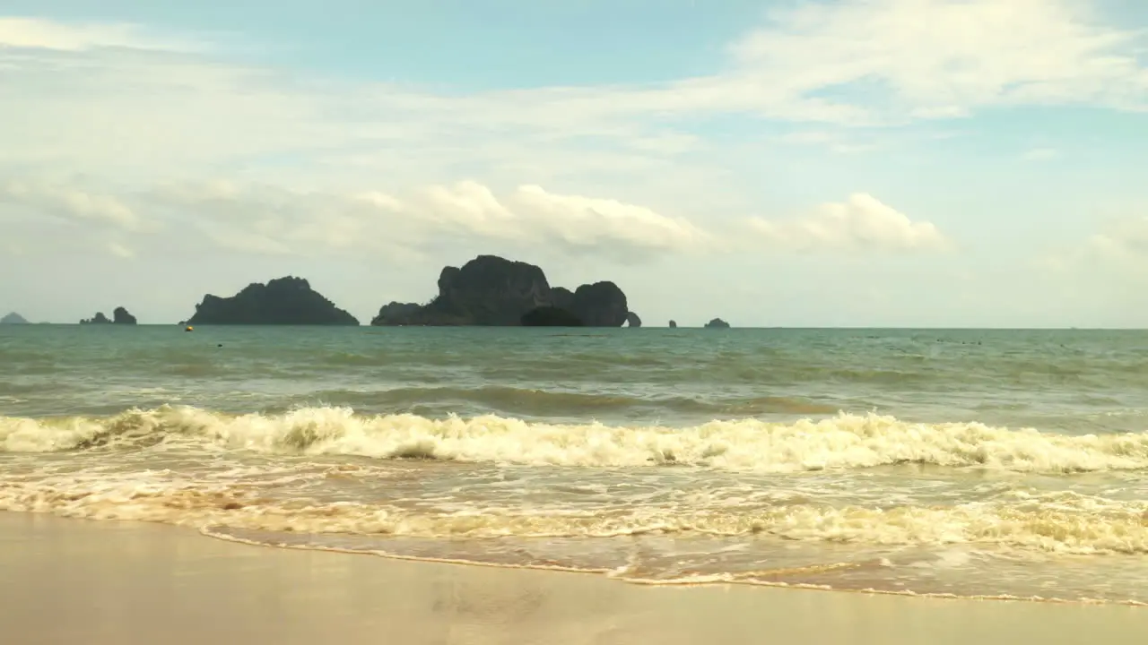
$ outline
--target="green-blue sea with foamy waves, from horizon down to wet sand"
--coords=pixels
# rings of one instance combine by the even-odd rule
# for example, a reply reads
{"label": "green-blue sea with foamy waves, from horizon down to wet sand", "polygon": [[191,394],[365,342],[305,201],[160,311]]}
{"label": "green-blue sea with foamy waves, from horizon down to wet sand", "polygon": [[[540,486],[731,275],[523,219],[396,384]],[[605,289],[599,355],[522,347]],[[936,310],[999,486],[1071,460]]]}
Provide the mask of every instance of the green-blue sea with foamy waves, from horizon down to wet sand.
{"label": "green-blue sea with foamy waves, from horizon down to wet sand", "polygon": [[1140,331],[0,327],[2,511],[619,583],[1142,605],[1146,429]]}

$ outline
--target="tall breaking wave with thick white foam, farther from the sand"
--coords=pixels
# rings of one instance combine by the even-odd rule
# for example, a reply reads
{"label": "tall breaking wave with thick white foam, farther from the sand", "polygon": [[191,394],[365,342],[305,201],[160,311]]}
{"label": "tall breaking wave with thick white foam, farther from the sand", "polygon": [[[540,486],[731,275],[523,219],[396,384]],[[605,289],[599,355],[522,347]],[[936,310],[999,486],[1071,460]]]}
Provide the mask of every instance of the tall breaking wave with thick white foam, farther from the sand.
{"label": "tall breaking wave with thick white foam, farther from the sand", "polygon": [[560,425],[495,415],[358,415],[348,407],[222,414],[189,406],[115,417],[0,417],[0,452],[200,442],[271,454],[346,454],[573,467],[693,466],[792,473],[895,464],[1034,473],[1148,468],[1148,434],[1071,436],[977,422],[917,423],[838,414],[793,423],[755,419],[688,428]]}

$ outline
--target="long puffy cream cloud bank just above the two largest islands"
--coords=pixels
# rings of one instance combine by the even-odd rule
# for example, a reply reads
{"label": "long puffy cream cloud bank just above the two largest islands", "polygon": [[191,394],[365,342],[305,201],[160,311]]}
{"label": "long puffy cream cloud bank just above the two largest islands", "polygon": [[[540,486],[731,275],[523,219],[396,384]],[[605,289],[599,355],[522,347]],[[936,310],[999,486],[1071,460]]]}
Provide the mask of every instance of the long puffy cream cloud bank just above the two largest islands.
{"label": "long puffy cream cloud bank just above the two largest islands", "polygon": [[410,249],[460,238],[644,258],[699,251],[713,243],[709,234],[681,217],[540,186],[498,196],[476,181],[426,186],[403,195],[208,182],[165,186],[150,192],[147,201],[220,247],[271,255]]}

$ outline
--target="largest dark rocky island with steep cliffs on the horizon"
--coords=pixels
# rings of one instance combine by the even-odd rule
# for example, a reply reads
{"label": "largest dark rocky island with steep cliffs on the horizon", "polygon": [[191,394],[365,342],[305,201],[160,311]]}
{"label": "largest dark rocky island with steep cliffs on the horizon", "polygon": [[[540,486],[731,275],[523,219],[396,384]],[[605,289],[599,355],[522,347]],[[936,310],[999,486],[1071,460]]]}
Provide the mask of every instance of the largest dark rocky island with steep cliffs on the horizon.
{"label": "largest dark rocky island with steep cliffs on the horizon", "polygon": [[391,302],[374,326],[631,327],[642,320],[629,310],[618,285],[603,281],[571,292],[551,287],[542,269],[480,255],[439,275],[439,295],[427,304]]}

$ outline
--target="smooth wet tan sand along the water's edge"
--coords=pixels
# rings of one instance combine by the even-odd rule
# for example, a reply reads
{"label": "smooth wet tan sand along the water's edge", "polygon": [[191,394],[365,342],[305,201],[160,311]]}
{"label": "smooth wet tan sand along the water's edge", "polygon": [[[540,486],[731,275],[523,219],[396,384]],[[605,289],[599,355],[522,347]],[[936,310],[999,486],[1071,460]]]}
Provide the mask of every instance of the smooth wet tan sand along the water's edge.
{"label": "smooth wet tan sand along the water's edge", "polygon": [[0,512],[0,632],[11,645],[1141,645],[1148,608],[651,588]]}

